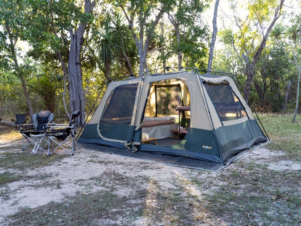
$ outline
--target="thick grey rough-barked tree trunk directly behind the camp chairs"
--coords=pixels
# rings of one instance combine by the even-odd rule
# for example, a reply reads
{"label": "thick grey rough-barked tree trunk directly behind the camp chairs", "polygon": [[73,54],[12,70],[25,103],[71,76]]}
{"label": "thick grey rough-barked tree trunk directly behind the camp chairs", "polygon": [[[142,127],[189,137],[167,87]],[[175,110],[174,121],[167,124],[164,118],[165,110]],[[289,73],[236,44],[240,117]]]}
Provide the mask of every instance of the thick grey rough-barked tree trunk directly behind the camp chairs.
{"label": "thick grey rough-barked tree trunk directly behind the camp chairs", "polygon": [[[92,13],[95,6],[95,1],[91,3],[91,0],[85,0],[86,14]],[[83,126],[85,122],[85,101],[83,90],[83,77],[80,62],[80,52],[84,42],[84,32],[87,26],[87,22],[81,22],[73,34],[70,31],[71,45],[68,60],[68,72],[69,72],[69,95],[70,95],[70,111],[71,114],[75,110],[80,110],[80,117],[77,118],[77,124]]]}

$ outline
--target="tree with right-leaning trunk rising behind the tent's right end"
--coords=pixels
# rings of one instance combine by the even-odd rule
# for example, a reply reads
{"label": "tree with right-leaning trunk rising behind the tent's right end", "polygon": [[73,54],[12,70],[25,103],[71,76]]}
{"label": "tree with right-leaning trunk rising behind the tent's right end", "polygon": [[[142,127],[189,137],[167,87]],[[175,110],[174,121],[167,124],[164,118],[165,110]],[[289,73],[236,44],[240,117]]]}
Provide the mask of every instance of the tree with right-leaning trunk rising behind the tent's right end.
{"label": "tree with right-leaning trunk rising behind the tent's right end", "polygon": [[[249,1],[248,14],[245,19],[239,17],[238,2],[232,2],[233,18],[238,28],[235,34],[226,33],[228,44],[231,44],[237,53],[246,75],[244,99],[249,101],[255,67],[266,45],[270,31],[280,17],[284,0],[279,3],[274,0]],[[270,12],[274,12],[270,18]],[[253,26],[255,25],[255,26]]]}

